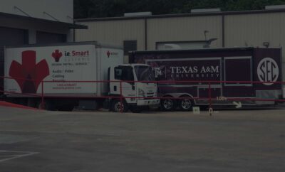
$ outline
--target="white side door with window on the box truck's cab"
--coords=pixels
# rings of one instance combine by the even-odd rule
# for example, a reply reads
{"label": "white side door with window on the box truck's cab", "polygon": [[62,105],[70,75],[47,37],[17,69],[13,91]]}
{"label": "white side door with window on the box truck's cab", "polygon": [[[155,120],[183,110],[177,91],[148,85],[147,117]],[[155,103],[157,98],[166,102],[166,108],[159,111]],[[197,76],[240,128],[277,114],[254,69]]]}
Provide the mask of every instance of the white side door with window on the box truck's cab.
{"label": "white side door with window on the box truck's cab", "polygon": [[[134,74],[132,66],[117,66],[114,68],[114,79],[116,82],[110,83],[110,93],[112,95],[122,95],[126,98],[125,100],[130,103],[130,97],[136,97]],[[121,84],[120,84],[120,81]],[[122,87],[120,87],[122,86]]]}

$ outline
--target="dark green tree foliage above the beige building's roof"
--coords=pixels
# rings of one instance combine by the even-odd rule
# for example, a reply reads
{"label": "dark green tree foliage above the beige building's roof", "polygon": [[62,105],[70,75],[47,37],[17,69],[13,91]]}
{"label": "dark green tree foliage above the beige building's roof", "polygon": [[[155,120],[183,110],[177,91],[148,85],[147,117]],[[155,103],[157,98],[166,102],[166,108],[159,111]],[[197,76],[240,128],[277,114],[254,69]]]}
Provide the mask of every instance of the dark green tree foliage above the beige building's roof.
{"label": "dark green tree foliage above the beige building's roof", "polygon": [[142,11],[152,11],[152,14],[177,14],[190,13],[191,9],[210,8],[245,11],[280,4],[285,4],[285,0],[74,0],[74,18],[114,17]]}

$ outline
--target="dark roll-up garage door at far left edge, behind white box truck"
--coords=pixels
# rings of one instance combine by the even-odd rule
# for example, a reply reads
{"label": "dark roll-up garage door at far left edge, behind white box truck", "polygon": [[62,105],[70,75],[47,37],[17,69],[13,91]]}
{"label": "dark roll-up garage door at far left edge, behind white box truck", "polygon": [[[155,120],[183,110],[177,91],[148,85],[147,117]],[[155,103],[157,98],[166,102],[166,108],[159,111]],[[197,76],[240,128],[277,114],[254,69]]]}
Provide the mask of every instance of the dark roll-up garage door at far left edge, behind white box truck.
{"label": "dark roll-up garage door at far left edge, behind white box truck", "polygon": [[[27,43],[28,43],[28,31],[17,28],[0,27],[0,76],[4,76],[5,45],[24,45]],[[4,80],[0,78],[0,90],[3,90],[3,88],[4,88]]]}

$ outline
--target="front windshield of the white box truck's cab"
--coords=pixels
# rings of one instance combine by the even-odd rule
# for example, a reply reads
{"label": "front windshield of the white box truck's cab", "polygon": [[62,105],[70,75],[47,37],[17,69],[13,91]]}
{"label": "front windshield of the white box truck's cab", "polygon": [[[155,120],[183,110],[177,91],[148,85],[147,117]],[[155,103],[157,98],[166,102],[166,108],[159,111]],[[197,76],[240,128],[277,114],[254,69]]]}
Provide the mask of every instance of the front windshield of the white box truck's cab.
{"label": "front windshield of the white box truck's cab", "polygon": [[154,81],[155,80],[155,74],[152,68],[150,68],[150,66],[145,66],[145,65],[135,66],[135,73],[138,77],[138,81]]}

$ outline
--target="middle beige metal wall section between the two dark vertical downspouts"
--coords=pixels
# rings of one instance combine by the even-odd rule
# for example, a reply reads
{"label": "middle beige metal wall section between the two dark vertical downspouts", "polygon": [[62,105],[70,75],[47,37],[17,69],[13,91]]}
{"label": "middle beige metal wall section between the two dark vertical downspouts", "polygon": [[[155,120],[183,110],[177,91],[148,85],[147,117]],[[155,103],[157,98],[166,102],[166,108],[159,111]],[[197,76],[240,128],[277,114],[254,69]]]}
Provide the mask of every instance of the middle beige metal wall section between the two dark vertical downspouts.
{"label": "middle beige metal wall section between the two dark vertical downspouts", "polygon": [[222,47],[222,16],[195,16],[147,19],[147,50],[155,50],[155,43],[165,41],[204,41],[218,38],[211,45]]}

